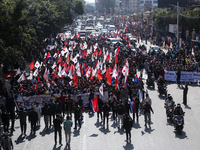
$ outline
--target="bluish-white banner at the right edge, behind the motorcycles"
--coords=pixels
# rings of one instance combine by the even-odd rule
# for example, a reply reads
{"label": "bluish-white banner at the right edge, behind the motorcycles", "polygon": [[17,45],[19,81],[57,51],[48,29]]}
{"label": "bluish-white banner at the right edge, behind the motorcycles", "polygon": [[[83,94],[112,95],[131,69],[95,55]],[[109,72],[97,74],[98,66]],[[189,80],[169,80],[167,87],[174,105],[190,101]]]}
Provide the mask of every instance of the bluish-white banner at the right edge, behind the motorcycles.
{"label": "bluish-white banner at the right edge, behind the motorcycles", "polygon": [[[177,71],[167,71],[165,70],[165,80],[167,81],[176,81]],[[200,72],[188,72],[181,71],[181,82],[198,82],[200,81]]]}

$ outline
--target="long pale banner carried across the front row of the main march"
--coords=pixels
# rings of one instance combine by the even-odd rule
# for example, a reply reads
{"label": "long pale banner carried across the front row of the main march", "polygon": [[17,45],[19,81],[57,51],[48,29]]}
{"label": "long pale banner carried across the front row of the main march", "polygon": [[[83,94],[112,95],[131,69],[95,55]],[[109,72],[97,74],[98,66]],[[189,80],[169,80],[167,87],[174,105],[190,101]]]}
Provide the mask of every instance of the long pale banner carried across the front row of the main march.
{"label": "long pale banner carried across the front row of the main march", "polygon": [[[81,94],[83,98],[83,106],[88,107],[88,99],[89,99],[89,93]],[[108,102],[108,92],[104,92],[104,95],[102,96],[99,92],[94,93],[94,97],[99,97],[104,101]],[[59,97],[59,94],[54,94],[55,97]],[[74,102],[78,101],[79,95],[71,95],[71,99],[74,100]],[[44,104],[50,101],[50,99],[53,98],[51,95],[33,95],[33,96],[19,96],[17,100],[15,101],[16,107],[19,110],[21,106],[26,106],[27,109],[31,109],[36,102],[39,102],[41,106],[44,106]],[[54,99],[54,98],[53,98]]]}

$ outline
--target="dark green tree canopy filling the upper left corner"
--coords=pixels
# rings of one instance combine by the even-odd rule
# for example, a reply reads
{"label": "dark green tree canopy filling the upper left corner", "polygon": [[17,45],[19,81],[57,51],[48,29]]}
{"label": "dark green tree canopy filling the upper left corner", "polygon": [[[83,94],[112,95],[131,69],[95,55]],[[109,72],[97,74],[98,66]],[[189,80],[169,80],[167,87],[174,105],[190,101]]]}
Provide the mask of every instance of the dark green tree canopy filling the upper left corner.
{"label": "dark green tree canopy filling the upper left corner", "polygon": [[1,0],[0,64],[21,64],[33,46],[83,13],[82,0]]}

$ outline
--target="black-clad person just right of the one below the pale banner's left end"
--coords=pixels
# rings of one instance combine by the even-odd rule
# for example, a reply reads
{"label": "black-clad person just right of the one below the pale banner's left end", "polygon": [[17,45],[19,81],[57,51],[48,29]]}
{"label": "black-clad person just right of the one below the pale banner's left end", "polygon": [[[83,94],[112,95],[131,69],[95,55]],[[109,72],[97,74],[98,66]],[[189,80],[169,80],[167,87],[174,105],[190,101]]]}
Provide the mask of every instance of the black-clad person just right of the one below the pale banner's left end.
{"label": "black-clad person just right of the one below the pale banner's left end", "polygon": [[31,134],[35,134],[36,132],[36,123],[38,122],[38,114],[35,111],[34,107],[32,107],[31,111],[29,112],[29,123],[31,123]]}

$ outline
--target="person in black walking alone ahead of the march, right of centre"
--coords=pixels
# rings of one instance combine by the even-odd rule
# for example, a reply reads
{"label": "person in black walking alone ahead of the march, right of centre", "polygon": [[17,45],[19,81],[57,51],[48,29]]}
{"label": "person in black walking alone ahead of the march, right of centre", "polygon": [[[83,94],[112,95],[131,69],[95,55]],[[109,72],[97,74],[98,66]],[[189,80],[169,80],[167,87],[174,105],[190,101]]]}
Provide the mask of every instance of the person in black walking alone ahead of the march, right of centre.
{"label": "person in black walking alone ahead of the march, right of centre", "polygon": [[[126,130],[126,142],[131,141],[131,128],[133,127],[132,118],[126,113],[123,118],[123,129]],[[128,138],[129,135],[129,138]]]}

